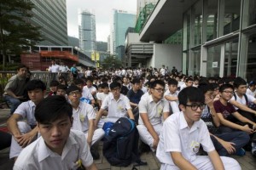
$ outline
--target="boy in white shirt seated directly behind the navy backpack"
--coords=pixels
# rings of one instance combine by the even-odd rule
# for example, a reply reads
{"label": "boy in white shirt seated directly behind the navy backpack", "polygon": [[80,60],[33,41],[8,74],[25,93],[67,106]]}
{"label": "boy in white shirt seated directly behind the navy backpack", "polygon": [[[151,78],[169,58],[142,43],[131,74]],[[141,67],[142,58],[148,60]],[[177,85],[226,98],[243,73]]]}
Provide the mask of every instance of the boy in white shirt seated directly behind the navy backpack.
{"label": "boy in white shirt seated directly behind the navy backpack", "polygon": [[120,94],[121,84],[119,82],[111,82],[110,90],[112,93],[108,94],[104,99],[102,107],[96,115],[95,126],[98,125],[103,112],[107,109],[108,116],[104,119],[105,122],[114,123],[119,119],[119,117],[127,116],[127,114],[130,119],[134,120],[129,99],[124,94]]}

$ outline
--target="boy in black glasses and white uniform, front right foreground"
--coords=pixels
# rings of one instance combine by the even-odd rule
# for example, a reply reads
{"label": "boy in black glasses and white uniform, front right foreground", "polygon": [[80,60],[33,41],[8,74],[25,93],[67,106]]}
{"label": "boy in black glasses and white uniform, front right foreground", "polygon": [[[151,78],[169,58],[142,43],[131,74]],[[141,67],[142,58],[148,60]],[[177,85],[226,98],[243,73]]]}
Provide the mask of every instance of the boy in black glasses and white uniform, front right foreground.
{"label": "boy in black glasses and white uniform, front right foreground", "polygon": [[[178,101],[181,112],[169,116],[160,133],[156,150],[160,169],[241,169],[235,159],[219,157],[214,149],[207,125],[200,119],[205,108],[201,90],[184,88]],[[208,156],[196,156],[200,145]]]}

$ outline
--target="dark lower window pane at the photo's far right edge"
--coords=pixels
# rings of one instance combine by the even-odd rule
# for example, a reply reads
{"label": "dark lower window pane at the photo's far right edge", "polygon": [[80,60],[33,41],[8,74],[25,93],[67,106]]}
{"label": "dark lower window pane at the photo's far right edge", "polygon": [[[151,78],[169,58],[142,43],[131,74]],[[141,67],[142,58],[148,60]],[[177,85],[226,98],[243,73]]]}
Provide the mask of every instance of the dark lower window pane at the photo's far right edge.
{"label": "dark lower window pane at the photo's far right edge", "polygon": [[256,81],[256,34],[248,38],[247,48],[247,82]]}

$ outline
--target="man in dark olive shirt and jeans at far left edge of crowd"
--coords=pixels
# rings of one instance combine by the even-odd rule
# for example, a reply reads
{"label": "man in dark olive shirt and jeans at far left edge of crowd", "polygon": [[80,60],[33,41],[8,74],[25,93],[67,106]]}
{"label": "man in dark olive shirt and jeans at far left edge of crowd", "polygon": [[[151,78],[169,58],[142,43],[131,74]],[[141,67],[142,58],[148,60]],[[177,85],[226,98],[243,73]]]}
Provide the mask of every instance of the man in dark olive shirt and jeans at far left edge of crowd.
{"label": "man in dark olive shirt and jeans at far left edge of crowd", "polygon": [[4,88],[3,99],[12,104],[10,108],[11,115],[24,99],[23,95],[26,87],[26,76],[26,65],[19,65],[17,74],[9,79]]}

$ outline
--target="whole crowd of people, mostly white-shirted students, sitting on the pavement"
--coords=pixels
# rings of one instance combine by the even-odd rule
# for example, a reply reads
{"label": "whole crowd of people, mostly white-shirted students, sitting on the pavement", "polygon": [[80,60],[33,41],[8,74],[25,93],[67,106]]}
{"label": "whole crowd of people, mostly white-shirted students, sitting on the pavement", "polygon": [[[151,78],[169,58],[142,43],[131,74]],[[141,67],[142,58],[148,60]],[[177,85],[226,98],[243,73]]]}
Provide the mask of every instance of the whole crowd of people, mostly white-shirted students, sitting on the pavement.
{"label": "whole crowd of people, mostly white-shirted students, sitting on the pavement", "polygon": [[25,80],[26,65],[10,78],[12,136],[1,136],[14,169],[96,169],[98,141],[123,116],[137,124],[140,152],[155,152],[161,169],[241,169],[230,155],[256,156],[256,82],[189,77],[165,65],[75,72],[68,82],[59,71],[49,92]]}

